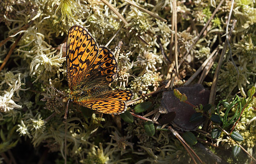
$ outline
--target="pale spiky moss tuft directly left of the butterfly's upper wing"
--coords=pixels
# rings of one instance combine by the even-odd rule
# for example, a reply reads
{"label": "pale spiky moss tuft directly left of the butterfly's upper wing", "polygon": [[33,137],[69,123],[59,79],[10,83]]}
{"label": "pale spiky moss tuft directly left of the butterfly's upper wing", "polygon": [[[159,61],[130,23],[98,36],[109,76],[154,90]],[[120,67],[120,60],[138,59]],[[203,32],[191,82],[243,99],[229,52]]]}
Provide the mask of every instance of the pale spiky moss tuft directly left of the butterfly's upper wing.
{"label": "pale spiky moss tuft directly left of the butterfly's upper wing", "polygon": [[47,80],[56,73],[60,76],[59,73],[65,70],[61,69],[63,61],[66,60],[65,57],[62,57],[62,49],[56,53],[57,50],[54,50],[44,40],[44,37],[44,35],[31,29],[29,33],[24,35],[25,45],[18,49],[20,55],[30,63],[30,76],[36,77],[35,81],[38,79]]}

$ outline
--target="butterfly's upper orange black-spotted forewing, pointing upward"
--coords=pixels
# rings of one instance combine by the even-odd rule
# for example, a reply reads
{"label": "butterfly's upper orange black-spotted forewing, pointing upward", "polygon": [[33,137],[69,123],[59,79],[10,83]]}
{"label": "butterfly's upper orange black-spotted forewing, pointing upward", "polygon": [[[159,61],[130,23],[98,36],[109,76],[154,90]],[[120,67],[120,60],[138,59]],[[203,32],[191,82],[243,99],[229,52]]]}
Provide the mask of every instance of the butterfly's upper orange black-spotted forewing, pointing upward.
{"label": "butterfly's upper orange black-spotted forewing, pointing upward", "polygon": [[81,82],[89,68],[90,63],[98,55],[98,45],[91,34],[79,27],[73,26],[67,39],[67,74],[71,90]]}

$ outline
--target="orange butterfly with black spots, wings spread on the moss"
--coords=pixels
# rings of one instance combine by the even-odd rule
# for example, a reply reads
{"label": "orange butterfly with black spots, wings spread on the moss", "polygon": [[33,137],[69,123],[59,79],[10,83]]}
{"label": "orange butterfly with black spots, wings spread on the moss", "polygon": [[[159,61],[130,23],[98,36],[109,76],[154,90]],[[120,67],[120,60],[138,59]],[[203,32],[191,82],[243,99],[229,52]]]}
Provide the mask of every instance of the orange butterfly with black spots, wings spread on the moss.
{"label": "orange butterfly with black spots, wings spread on the moss", "polygon": [[123,113],[127,108],[125,101],[131,100],[132,91],[113,90],[108,86],[117,73],[112,52],[98,46],[87,29],[73,26],[68,32],[66,53],[67,80],[71,90],[67,99],[101,113]]}

